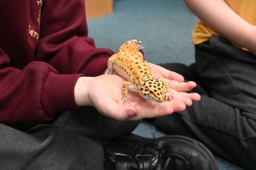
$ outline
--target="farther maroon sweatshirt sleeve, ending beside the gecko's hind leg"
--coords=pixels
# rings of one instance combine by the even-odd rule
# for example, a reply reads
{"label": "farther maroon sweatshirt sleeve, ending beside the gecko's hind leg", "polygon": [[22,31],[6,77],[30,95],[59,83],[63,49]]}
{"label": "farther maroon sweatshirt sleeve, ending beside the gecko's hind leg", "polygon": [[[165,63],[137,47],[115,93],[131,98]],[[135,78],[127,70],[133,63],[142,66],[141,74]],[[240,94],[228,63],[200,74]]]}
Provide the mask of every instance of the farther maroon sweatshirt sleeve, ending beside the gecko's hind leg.
{"label": "farther maroon sweatshirt sleeve, ending beside the gecko's hind leg", "polygon": [[95,48],[94,40],[88,37],[84,0],[44,1],[38,60],[48,62],[59,74],[99,76],[113,54],[112,50]]}

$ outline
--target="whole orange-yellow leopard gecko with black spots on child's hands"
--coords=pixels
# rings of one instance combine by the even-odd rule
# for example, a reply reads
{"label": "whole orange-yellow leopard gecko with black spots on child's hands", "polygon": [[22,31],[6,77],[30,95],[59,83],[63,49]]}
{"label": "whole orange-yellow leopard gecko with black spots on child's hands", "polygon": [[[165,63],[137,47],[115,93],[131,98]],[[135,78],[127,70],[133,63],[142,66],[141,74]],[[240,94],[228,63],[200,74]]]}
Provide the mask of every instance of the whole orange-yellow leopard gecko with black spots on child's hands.
{"label": "whole orange-yellow leopard gecko with black spots on child's hands", "polygon": [[145,50],[139,40],[130,40],[122,44],[119,52],[109,58],[109,74],[114,69],[127,81],[122,84],[122,101],[129,103],[128,90],[138,92],[142,98],[158,103],[172,100],[174,93],[170,92],[165,81],[156,79],[152,75],[150,66],[143,60]]}

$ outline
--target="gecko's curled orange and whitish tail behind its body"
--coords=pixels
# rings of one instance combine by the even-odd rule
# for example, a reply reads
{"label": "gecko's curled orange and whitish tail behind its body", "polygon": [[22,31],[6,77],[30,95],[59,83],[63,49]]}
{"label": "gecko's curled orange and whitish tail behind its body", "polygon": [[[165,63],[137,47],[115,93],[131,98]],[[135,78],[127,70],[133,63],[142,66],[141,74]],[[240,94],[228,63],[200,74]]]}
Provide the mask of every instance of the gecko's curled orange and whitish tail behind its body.
{"label": "gecko's curled orange and whitish tail behind its body", "polygon": [[138,51],[145,57],[145,48],[142,42],[137,39],[126,41],[120,46],[119,51],[120,50]]}

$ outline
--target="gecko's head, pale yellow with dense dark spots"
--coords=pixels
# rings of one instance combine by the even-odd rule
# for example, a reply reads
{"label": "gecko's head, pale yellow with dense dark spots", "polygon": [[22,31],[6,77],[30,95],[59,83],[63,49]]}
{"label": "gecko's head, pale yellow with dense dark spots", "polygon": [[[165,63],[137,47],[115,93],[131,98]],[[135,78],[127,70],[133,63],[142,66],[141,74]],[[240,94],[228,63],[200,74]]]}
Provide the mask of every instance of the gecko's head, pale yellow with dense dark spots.
{"label": "gecko's head, pale yellow with dense dark spots", "polygon": [[161,103],[164,100],[165,84],[154,77],[144,76],[140,82],[140,95],[144,99]]}

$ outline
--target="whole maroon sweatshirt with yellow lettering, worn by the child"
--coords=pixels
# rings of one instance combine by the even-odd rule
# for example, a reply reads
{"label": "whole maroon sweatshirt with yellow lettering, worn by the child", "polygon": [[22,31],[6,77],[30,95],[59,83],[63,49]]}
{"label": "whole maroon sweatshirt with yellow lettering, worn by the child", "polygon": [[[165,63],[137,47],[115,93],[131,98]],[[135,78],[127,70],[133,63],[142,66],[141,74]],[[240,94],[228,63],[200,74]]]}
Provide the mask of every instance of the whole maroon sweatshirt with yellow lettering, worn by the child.
{"label": "whole maroon sweatshirt with yellow lettering, worn by the child", "polygon": [[112,54],[88,37],[84,0],[0,1],[0,123],[78,108],[77,79],[101,75]]}

